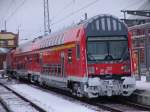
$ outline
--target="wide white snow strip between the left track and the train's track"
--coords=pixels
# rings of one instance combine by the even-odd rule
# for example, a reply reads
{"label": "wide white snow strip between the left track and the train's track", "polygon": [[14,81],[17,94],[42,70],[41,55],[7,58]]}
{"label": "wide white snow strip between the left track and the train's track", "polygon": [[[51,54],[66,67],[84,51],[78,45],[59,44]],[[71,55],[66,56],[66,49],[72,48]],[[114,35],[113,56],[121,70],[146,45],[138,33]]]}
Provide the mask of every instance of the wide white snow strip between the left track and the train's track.
{"label": "wide white snow strip between the left track and the train's track", "polygon": [[7,82],[3,80],[2,82],[37,106],[44,108],[46,112],[104,112],[104,110],[99,109],[96,106],[82,103],[73,98],[65,97],[49,90],[40,89],[40,87],[37,86],[21,84],[17,81]]}

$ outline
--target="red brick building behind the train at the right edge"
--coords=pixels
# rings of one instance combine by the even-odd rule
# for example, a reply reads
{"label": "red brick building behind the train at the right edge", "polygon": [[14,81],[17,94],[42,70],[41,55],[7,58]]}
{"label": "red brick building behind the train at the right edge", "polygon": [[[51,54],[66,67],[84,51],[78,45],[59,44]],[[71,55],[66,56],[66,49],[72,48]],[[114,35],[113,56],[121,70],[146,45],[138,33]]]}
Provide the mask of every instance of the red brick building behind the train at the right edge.
{"label": "red brick building behind the train at the right edge", "polygon": [[150,23],[129,28],[132,35],[132,51],[138,58],[139,72],[150,69]]}

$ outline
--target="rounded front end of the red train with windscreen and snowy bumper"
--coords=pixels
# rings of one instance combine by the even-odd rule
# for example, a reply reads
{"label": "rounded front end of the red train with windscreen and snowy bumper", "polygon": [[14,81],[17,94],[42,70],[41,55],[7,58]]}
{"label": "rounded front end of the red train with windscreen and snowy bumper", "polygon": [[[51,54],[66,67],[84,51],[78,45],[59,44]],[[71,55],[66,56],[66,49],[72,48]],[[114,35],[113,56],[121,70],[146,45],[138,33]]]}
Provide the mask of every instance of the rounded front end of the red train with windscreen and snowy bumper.
{"label": "rounded front end of the red train with windscreen and snowy bumper", "polygon": [[135,90],[128,28],[119,19],[102,15],[85,27],[89,97],[129,96]]}

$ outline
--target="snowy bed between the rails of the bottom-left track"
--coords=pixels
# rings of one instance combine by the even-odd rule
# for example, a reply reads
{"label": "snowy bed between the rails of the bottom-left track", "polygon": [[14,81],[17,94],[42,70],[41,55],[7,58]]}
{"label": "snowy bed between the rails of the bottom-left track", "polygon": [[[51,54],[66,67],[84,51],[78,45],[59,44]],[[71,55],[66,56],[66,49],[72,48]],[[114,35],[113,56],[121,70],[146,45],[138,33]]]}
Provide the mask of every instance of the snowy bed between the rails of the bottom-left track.
{"label": "snowy bed between the rails of the bottom-left track", "polygon": [[39,112],[28,102],[3,86],[0,86],[0,100],[10,112]]}

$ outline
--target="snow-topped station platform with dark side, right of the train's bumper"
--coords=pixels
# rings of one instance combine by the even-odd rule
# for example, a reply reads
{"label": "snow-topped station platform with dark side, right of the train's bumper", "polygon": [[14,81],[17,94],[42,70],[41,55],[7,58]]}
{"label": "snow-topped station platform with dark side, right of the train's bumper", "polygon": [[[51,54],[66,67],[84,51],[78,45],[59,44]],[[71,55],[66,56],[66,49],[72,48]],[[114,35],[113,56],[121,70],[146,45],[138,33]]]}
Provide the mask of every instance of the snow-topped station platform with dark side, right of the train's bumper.
{"label": "snow-topped station platform with dark side, right of the train's bumper", "polygon": [[146,82],[146,76],[141,76],[141,80],[136,81],[136,91],[129,99],[150,106],[150,82]]}

